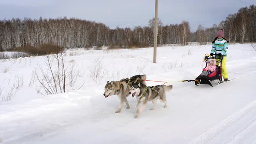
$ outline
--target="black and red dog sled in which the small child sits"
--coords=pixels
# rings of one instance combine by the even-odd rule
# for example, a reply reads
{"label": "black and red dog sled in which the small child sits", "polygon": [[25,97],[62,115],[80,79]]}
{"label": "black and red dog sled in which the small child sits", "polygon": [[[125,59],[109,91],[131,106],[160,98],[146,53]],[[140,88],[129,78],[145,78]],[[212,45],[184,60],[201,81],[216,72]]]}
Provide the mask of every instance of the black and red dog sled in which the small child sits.
{"label": "black and red dog sled in which the small child sits", "polygon": [[210,56],[208,54],[205,55],[204,57],[204,61],[206,62],[205,68],[207,67],[207,65],[209,65],[210,59],[216,59],[217,63],[219,63],[219,65],[216,65],[217,68],[216,70],[214,70],[213,72],[209,72],[209,71],[203,71],[195,80],[195,85],[197,84],[207,84],[210,86],[213,86],[211,84],[210,81],[216,80],[218,79],[219,82],[218,84],[222,83],[222,73],[221,73],[221,66],[222,66],[222,59],[223,56]]}

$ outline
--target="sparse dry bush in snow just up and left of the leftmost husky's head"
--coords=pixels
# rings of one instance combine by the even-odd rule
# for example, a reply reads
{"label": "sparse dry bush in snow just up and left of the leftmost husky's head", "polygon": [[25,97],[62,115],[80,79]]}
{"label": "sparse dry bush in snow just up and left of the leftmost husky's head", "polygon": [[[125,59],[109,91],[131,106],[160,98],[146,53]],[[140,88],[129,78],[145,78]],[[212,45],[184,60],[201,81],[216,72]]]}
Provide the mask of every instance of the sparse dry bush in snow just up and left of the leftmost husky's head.
{"label": "sparse dry bush in snow just up and left of the leftmost husky's head", "polygon": [[92,65],[89,69],[91,72],[91,78],[95,82],[98,82],[98,79],[102,78],[105,72],[100,60],[95,60],[94,62],[92,62]]}

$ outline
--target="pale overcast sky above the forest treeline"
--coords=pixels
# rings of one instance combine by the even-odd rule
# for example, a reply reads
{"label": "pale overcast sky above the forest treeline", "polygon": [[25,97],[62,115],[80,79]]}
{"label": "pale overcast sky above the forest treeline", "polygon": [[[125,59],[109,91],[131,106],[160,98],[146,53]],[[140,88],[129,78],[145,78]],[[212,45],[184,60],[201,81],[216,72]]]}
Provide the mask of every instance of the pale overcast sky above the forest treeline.
{"label": "pale overcast sky above the forest treeline", "polygon": [[[158,0],[158,18],[164,25],[190,23],[211,27],[256,0]],[[79,18],[104,23],[110,28],[148,26],[154,17],[155,0],[0,0],[0,20]]]}

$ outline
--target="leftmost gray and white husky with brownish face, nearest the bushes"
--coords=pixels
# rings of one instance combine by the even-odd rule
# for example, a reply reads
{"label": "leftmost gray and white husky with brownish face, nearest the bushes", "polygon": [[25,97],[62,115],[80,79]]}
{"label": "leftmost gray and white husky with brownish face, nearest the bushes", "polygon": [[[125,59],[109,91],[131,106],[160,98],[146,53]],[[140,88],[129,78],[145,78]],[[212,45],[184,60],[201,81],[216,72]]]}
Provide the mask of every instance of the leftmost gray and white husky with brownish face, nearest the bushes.
{"label": "leftmost gray and white husky with brownish face, nearest the bushes", "polygon": [[130,91],[130,88],[128,87],[126,82],[119,82],[119,81],[111,81],[111,82],[107,82],[107,84],[105,85],[105,92],[104,92],[104,96],[105,98],[107,98],[110,95],[117,95],[118,98],[120,99],[120,104],[118,107],[118,111],[115,111],[115,113],[119,113],[121,112],[121,109],[125,104],[127,105],[126,108],[130,108],[130,105],[128,104],[128,101],[126,99],[126,97],[128,97]]}

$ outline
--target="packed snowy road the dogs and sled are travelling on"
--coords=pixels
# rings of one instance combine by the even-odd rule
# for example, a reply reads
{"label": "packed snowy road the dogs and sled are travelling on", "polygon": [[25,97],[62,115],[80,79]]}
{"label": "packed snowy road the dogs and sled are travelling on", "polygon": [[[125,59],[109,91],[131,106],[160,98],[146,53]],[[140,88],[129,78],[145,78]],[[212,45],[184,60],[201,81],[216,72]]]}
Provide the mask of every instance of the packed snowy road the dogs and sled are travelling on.
{"label": "packed snowy road the dogs and sled are travelling on", "polygon": [[[104,84],[15,105],[2,103],[0,144],[256,144],[256,57],[228,64],[231,81],[213,81],[214,87],[171,83],[168,107],[158,101],[150,111],[150,102],[139,118],[134,118],[131,97],[131,108],[115,113],[119,100],[103,96]],[[191,66],[147,78],[194,79],[199,71]]]}

